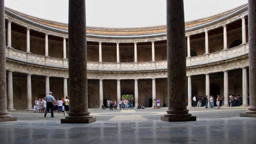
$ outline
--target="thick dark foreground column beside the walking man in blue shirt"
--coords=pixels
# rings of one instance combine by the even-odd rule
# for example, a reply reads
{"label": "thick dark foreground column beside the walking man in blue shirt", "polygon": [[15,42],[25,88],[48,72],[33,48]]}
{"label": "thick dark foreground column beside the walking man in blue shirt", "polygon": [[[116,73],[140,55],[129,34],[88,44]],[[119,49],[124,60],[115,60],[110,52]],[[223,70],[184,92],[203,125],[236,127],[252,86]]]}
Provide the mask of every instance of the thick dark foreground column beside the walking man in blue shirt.
{"label": "thick dark foreground column beside the walking man in blue shirt", "polygon": [[69,0],[69,116],[61,123],[91,123],[87,93],[85,0]]}

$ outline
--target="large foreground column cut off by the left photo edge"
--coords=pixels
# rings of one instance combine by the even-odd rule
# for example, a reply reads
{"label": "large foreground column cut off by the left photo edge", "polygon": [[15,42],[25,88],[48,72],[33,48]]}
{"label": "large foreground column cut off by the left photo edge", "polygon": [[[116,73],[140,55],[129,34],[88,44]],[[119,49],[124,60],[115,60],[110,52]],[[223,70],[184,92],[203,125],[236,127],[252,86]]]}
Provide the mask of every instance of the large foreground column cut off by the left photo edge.
{"label": "large foreground column cut off by the left photo edge", "polygon": [[4,0],[0,0],[0,122],[17,121],[8,115],[6,104],[6,58],[5,58],[5,19]]}

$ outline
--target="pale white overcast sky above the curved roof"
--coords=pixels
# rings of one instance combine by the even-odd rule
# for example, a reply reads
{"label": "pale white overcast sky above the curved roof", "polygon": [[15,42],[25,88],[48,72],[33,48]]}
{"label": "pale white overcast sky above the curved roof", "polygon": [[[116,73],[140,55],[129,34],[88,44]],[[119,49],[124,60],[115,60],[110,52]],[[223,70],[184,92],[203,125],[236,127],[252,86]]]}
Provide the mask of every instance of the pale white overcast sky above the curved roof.
{"label": "pale white overcast sky above the curved roof", "polygon": [[[68,0],[4,0],[16,11],[68,23]],[[184,0],[185,21],[225,12],[247,0]],[[133,28],[166,24],[166,0],[86,0],[86,25]]]}

